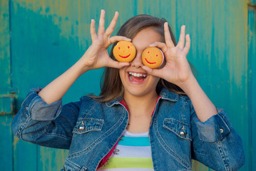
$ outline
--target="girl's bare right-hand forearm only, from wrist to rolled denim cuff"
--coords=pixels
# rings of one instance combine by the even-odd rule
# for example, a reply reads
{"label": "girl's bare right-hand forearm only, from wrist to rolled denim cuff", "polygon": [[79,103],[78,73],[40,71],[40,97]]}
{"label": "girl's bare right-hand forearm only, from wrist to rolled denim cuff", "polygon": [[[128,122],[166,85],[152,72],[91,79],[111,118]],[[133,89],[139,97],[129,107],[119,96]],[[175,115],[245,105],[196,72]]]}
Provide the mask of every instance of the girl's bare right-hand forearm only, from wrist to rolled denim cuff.
{"label": "girl's bare right-hand forearm only, from wrist to rolled denim cuff", "polygon": [[217,114],[215,105],[205,94],[194,76],[186,83],[180,84],[180,88],[182,88],[190,98],[195,108],[195,113],[198,115],[198,119],[201,122],[205,122],[210,117]]}

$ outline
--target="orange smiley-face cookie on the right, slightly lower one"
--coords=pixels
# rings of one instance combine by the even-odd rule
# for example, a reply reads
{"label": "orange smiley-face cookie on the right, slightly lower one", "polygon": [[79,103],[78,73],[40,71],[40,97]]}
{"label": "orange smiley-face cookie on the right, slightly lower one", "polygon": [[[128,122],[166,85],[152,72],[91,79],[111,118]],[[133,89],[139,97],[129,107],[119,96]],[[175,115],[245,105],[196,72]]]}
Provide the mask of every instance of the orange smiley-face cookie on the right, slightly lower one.
{"label": "orange smiley-face cookie on the right, slightly lower one", "polygon": [[148,47],[142,53],[142,62],[149,68],[158,68],[163,63],[163,52],[156,47]]}

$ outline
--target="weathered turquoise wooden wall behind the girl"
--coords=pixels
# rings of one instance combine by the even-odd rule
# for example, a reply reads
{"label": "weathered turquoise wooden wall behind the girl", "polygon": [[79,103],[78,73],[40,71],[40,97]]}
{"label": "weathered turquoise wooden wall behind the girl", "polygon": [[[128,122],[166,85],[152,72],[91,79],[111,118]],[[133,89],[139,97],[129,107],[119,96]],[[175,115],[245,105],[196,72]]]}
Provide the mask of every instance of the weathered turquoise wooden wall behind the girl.
{"label": "weathered turquoise wooden wall behind the girl", "polygon": [[[0,1],[0,170],[61,170],[67,150],[40,147],[11,134],[11,120],[30,88],[46,86],[91,44],[90,21],[115,11],[114,34],[137,14],[164,17],[179,35],[185,24],[192,47],[188,59],[215,105],[225,108],[243,140],[241,170],[256,170],[255,0],[1,0]],[[63,98],[99,93],[102,69],[78,78]],[[15,99],[15,100],[14,100]],[[194,162],[193,170],[209,170]]]}

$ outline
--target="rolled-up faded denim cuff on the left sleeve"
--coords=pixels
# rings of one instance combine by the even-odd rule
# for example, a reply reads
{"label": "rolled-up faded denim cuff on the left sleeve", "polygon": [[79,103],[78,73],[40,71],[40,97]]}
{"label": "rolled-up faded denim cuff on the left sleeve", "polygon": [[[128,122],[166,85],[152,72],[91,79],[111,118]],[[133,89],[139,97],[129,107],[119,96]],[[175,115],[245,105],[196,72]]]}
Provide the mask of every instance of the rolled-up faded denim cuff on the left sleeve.
{"label": "rolled-up faded denim cuff on the left sleeve", "polygon": [[62,100],[47,104],[37,94],[42,88],[31,89],[21,108],[28,110],[32,120],[49,121],[54,120],[61,113]]}

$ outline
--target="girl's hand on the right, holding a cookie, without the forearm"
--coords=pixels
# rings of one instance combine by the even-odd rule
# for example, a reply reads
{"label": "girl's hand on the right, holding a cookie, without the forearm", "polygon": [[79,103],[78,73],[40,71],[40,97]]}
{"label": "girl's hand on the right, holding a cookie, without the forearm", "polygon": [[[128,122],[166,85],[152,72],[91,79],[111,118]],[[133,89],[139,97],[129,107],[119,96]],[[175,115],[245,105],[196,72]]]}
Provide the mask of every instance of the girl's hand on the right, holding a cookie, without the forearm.
{"label": "girl's hand on the right, holding a cookie, without the forearm", "polygon": [[[143,69],[153,76],[158,76],[170,83],[174,83],[182,88],[183,84],[193,78],[193,73],[186,56],[190,50],[190,36],[185,36],[185,26],[181,26],[180,39],[177,46],[174,46],[170,37],[168,23],[164,25],[165,43],[155,42],[150,46],[161,48],[165,55],[166,64],[160,69],[151,69],[143,66]],[[185,43],[186,38],[186,43]]]}

